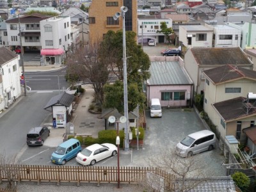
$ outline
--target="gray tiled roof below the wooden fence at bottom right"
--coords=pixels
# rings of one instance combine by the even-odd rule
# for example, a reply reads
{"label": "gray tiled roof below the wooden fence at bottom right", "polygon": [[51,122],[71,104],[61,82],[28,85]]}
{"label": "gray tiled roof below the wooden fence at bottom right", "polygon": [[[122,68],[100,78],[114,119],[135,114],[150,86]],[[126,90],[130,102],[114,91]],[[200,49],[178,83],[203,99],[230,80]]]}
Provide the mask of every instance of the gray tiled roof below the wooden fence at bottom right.
{"label": "gray tiled roof below the wooden fence at bottom right", "polygon": [[[216,191],[236,191],[234,180],[230,176],[186,179],[185,184],[177,180],[175,191],[180,191],[184,185],[188,186],[185,191],[189,192],[216,192]],[[192,187],[192,189],[189,189]]]}

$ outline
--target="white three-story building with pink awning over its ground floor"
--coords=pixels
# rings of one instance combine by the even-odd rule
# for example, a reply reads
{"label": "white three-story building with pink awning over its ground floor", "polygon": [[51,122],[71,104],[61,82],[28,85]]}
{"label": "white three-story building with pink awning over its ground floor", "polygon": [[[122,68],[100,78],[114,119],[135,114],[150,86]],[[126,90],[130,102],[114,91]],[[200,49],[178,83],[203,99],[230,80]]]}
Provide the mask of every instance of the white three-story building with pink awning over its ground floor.
{"label": "white three-story building with pink awning over its ground floor", "polygon": [[41,55],[45,65],[60,65],[70,51],[71,23],[69,16],[51,17],[40,21]]}

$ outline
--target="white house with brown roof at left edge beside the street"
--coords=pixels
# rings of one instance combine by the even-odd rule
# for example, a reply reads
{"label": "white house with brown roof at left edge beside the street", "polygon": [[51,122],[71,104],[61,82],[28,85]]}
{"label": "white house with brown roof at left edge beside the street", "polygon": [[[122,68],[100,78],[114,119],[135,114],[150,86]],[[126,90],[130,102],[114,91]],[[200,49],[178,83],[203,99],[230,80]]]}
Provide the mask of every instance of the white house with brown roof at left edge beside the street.
{"label": "white house with brown roof at left edge beside the street", "polygon": [[0,47],[0,111],[21,95],[19,56]]}

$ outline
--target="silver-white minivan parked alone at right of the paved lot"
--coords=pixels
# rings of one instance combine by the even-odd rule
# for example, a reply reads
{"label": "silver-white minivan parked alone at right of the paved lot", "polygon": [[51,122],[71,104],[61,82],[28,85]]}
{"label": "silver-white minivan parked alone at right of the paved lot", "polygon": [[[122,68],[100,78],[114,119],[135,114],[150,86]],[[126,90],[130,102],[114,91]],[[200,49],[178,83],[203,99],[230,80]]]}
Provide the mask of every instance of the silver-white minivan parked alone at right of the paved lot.
{"label": "silver-white minivan parked alone at right of the paved lot", "polygon": [[181,157],[192,156],[215,147],[216,136],[214,132],[203,130],[189,134],[176,146],[176,152]]}

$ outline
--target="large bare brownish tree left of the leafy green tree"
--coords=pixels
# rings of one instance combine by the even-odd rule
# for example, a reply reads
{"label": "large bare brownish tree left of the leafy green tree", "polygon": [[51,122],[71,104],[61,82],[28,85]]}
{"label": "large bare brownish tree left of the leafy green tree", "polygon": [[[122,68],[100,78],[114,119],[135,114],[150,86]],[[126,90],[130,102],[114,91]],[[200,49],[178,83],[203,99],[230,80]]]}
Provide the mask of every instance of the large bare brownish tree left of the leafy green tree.
{"label": "large bare brownish tree left of the leafy green tree", "polygon": [[81,47],[67,60],[68,79],[72,83],[85,81],[92,83],[95,99],[102,104],[103,87],[109,77],[109,58],[100,58],[98,52],[102,51],[100,44],[88,44]]}

